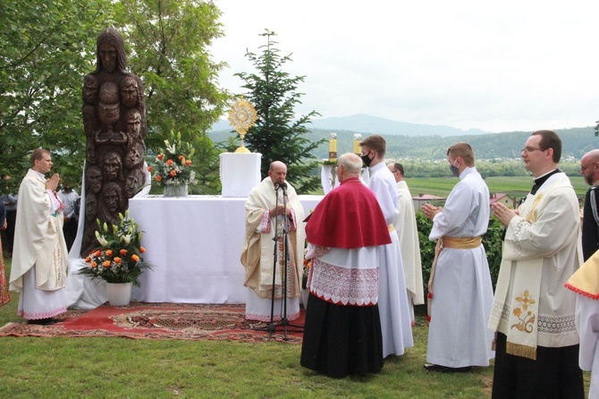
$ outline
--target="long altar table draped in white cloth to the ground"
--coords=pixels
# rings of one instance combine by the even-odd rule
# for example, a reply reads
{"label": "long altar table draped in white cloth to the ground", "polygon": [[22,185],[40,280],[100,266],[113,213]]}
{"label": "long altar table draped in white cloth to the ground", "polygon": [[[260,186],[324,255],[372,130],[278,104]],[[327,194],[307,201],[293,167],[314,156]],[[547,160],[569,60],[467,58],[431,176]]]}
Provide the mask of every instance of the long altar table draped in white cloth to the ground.
{"label": "long altar table draped in white cloth to the ground", "polygon": [[[322,195],[300,195],[304,213]],[[245,198],[221,196],[136,197],[129,215],[143,231],[144,261],[133,299],[147,302],[245,303],[241,247]]]}

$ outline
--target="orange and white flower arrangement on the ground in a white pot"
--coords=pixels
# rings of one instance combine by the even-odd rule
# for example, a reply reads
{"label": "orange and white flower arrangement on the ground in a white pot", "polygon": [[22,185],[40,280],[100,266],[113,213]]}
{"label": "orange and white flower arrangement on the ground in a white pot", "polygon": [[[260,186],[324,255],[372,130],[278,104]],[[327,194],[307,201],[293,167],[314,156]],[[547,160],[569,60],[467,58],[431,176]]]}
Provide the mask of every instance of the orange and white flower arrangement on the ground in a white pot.
{"label": "orange and white flower arrangement on the ground in a white pot", "polygon": [[141,246],[142,232],[138,224],[129,218],[129,211],[124,216],[119,214],[121,222],[109,227],[101,225],[97,220],[97,242],[101,245],[93,250],[85,259],[86,266],[81,268],[81,275],[100,278],[106,283],[132,283],[139,286],[138,277],[150,266],[143,262],[141,254],[146,250]]}

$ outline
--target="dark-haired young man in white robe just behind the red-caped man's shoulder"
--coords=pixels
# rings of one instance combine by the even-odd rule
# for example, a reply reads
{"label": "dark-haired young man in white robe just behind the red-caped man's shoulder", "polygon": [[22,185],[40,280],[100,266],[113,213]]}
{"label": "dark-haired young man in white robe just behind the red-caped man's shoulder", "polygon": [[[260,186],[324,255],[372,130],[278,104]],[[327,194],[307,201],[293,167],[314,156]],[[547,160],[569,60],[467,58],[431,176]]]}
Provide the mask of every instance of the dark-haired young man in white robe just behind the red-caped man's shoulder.
{"label": "dark-haired young man in white robe just behind the red-caped man's shoulder", "polygon": [[384,164],[387,143],[378,134],[367,137],[359,145],[362,161],[370,167],[368,187],[375,191],[376,200],[383,210],[391,243],[380,247],[378,309],[383,331],[383,356],[402,355],[406,348],[414,346],[411,319],[409,318],[408,293],[401,261],[400,240],[393,222],[399,216],[395,179]]}

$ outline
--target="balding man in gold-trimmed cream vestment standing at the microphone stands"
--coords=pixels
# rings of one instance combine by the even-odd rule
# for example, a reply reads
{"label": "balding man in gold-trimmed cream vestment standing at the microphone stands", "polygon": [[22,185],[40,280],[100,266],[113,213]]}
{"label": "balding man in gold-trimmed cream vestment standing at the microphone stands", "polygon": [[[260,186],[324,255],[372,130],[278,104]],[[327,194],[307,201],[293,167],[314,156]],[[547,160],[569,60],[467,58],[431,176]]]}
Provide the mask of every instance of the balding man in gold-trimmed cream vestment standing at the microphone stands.
{"label": "balding man in gold-trimmed cream vestment standing at the microphone stands", "polygon": [[[241,264],[246,269],[244,285],[249,287],[246,302],[246,318],[249,320],[270,322],[273,295],[273,321],[280,321],[284,316],[283,227],[285,220],[289,227],[287,248],[290,259],[287,267],[286,316],[288,320],[299,318],[299,295],[306,237],[303,224],[304,210],[295,190],[285,181],[286,175],[287,166],[283,162],[274,161],[270,165],[268,176],[249,193],[246,201],[246,234]],[[287,208],[283,208],[283,196],[286,196]],[[276,242],[274,271],[275,232],[278,233],[278,242]]]}

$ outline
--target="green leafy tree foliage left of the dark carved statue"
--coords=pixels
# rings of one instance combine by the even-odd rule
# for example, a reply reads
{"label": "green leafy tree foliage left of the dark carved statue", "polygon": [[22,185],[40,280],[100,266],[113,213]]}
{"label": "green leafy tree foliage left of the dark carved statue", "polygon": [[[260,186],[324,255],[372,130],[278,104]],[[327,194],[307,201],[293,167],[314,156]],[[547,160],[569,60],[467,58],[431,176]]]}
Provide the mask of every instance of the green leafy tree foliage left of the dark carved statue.
{"label": "green leafy tree foliage left of the dark carved statue", "polygon": [[[0,3],[0,174],[14,191],[44,147],[55,170],[80,182],[85,135],[83,76],[92,69],[97,32],[110,18],[108,0],[21,0]],[[77,184],[73,185],[77,185]]]}

